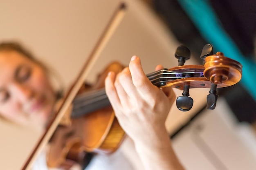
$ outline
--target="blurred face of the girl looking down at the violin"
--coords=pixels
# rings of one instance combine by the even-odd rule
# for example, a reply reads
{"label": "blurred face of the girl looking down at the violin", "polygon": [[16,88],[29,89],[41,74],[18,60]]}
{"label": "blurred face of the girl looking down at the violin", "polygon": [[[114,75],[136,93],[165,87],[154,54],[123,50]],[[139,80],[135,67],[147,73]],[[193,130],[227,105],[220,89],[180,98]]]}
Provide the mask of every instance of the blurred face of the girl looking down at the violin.
{"label": "blurred face of the girl looking down at the violin", "polygon": [[0,115],[18,124],[45,125],[55,94],[42,66],[16,51],[0,52]]}

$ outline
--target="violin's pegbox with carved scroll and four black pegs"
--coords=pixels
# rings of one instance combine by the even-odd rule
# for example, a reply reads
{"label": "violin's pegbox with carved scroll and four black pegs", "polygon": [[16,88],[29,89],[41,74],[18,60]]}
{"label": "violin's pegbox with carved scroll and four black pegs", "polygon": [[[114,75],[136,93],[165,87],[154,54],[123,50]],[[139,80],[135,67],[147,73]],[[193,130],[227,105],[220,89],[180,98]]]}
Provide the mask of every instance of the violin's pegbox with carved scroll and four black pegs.
{"label": "violin's pegbox with carved scroll and four black pegs", "polygon": [[189,97],[190,88],[210,88],[207,108],[212,110],[218,99],[217,88],[236,84],[242,77],[242,65],[225,57],[223,53],[213,54],[211,44],[202,49],[202,65],[184,65],[190,58],[190,51],[183,45],[178,46],[175,57],[178,59],[178,66],[155,71],[147,77],[157,87],[183,90],[182,96],[176,99],[176,106],[181,111],[189,111],[193,106],[193,99]]}

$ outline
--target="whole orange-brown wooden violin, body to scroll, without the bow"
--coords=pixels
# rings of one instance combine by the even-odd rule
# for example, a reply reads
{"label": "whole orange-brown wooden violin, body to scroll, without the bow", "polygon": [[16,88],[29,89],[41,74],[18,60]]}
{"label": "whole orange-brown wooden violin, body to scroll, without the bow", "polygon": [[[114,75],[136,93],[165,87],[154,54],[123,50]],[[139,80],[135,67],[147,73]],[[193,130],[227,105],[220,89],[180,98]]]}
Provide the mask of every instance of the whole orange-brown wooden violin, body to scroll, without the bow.
{"label": "whole orange-brown wooden violin, body to scroll, without the bow", "polygon": [[[216,89],[236,84],[242,77],[242,65],[225,57],[223,53],[213,54],[213,46],[210,44],[205,45],[202,50],[204,66],[184,65],[190,57],[186,46],[179,46],[175,57],[178,59],[178,66],[155,71],[147,77],[155,86],[183,90],[182,96],[176,100],[177,108],[181,111],[188,111],[193,106],[193,99],[189,97],[190,88],[210,88],[207,108],[212,110],[216,107],[218,98]],[[120,127],[105,93],[104,79],[109,71],[119,73],[123,68],[118,62],[113,62],[99,76],[98,83],[93,88],[83,86],[76,95],[72,102],[71,115],[68,116],[71,118],[71,126],[64,128],[72,128],[68,132],[72,134],[71,140],[63,139],[68,134],[63,127],[57,128],[54,139],[50,141],[52,150],[48,154],[49,167],[68,167],[67,162],[70,161],[82,165],[88,152],[110,154],[121,145],[125,132]],[[65,147],[59,147],[61,143]]]}

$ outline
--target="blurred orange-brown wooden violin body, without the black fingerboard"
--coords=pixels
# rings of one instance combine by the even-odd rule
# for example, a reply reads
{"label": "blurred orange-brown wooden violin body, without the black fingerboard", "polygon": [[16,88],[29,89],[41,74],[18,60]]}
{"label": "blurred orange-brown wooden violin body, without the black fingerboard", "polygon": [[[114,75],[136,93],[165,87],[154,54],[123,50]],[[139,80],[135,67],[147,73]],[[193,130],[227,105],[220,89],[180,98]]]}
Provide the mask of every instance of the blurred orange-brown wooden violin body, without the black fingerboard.
{"label": "blurred orange-brown wooden violin body, without the black fingerboard", "polygon": [[[118,62],[111,63],[99,75],[97,84],[85,84],[77,96],[103,88],[108,72],[119,73],[123,68]],[[58,126],[49,142],[47,166],[68,169],[74,163],[83,165],[88,152],[110,154],[119,148],[125,138],[125,132],[110,104],[93,110],[95,111],[76,116],[69,121],[65,120],[65,123]]]}

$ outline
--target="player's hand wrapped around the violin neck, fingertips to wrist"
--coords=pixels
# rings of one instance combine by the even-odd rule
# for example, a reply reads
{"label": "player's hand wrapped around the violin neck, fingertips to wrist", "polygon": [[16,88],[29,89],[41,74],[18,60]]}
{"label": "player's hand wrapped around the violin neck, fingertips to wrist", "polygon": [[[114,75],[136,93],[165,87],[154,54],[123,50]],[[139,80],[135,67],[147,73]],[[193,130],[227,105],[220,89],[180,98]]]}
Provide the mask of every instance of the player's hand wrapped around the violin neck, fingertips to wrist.
{"label": "player's hand wrapped around the violin neck, fingertips to wrist", "polygon": [[134,141],[145,143],[165,131],[175,95],[171,88],[162,91],[150,82],[139,57],[133,56],[129,68],[118,75],[110,72],[105,88],[119,124]]}

